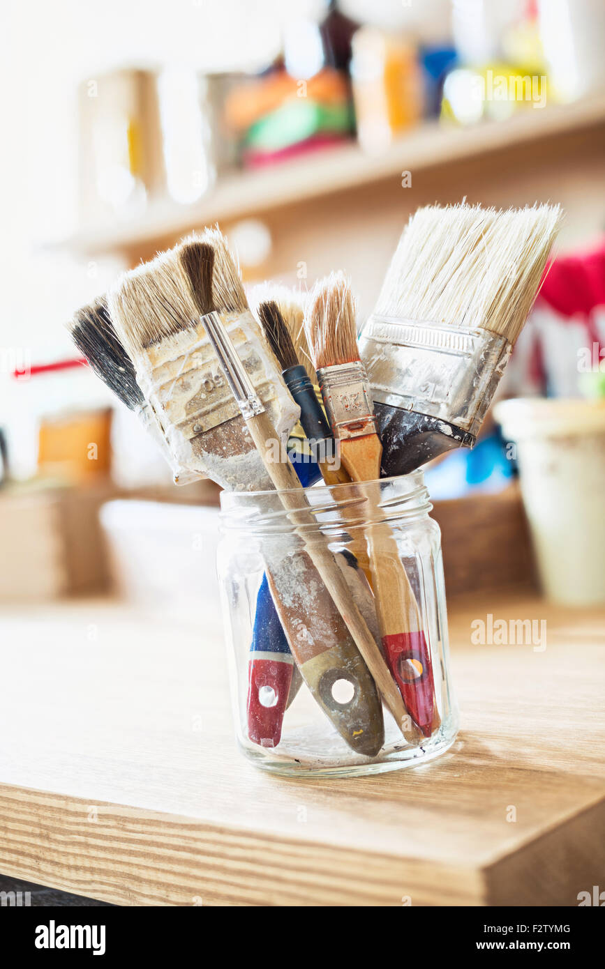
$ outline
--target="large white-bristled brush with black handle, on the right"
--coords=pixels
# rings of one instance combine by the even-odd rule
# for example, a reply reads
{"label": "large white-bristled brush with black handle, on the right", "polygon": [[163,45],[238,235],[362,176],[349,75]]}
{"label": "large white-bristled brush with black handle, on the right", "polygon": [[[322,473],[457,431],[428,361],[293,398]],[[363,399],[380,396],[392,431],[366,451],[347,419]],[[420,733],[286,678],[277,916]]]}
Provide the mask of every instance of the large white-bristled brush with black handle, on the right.
{"label": "large white-bristled brush with black handle, on the right", "polygon": [[472,448],[538,291],[558,205],[429,205],[360,337],[387,477]]}

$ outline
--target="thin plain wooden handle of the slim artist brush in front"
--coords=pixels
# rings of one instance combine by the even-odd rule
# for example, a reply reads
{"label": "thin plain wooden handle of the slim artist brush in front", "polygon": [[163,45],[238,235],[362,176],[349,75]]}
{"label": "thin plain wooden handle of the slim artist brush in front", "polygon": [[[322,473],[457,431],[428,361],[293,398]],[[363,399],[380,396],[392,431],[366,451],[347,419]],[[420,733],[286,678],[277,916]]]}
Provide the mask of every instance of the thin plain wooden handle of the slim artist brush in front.
{"label": "thin plain wooden handle of the slim artist brush in front", "polygon": [[295,489],[297,491],[304,489],[288,459],[285,461],[274,460],[273,449],[278,438],[269,415],[264,412],[249,418],[246,423],[250,436],[263,458],[267,473],[277,489],[281,503],[288,512],[288,517],[295,526],[297,534],[303,539],[313,565],[330,592],[336,609],[340,612],[353,641],[364,657],[366,666],[374,677],[376,686],[385,703],[395,717],[401,733],[410,742],[418,743],[422,739],[422,735],[405,709],[398,687],[382,658],[380,649],[366,626],[362,613],[353,601],[346,579],[319,531],[315,517],[308,506],[304,507],[303,505],[301,507],[302,501],[299,494],[288,493]]}

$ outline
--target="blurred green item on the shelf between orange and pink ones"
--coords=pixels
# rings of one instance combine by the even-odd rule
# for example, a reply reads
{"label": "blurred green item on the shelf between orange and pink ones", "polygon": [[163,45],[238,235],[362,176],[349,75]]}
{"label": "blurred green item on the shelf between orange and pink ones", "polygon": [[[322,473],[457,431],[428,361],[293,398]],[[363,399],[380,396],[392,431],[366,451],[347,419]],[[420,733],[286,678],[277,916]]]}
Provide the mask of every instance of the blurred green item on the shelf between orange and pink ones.
{"label": "blurred green item on the shelf between orange and pink ones", "polygon": [[255,151],[279,151],[313,135],[346,135],[352,123],[350,104],[320,105],[301,99],[271,111],[251,125],[244,146]]}

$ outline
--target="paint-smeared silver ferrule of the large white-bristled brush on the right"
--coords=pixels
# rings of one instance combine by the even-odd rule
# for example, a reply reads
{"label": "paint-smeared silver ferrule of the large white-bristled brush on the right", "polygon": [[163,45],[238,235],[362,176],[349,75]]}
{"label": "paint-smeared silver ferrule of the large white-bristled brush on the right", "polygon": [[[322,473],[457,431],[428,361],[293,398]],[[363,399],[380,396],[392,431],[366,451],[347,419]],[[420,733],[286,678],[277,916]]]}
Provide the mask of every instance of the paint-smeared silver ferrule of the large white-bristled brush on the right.
{"label": "paint-smeared silver ferrule of the large white-bristled brush on the right", "polygon": [[370,316],[360,350],[374,401],[476,435],[511,345],[480,327]]}

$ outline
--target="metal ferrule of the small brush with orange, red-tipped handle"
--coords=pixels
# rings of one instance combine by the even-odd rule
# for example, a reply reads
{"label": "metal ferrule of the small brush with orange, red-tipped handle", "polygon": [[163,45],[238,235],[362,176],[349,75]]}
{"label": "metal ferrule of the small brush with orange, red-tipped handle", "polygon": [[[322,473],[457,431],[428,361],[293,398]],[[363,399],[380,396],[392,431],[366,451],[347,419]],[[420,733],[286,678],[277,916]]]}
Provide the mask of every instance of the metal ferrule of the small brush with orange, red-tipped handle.
{"label": "metal ferrule of the small brush with orange, red-tipped handle", "polygon": [[345,440],[376,431],[372,394],[361,360],[320,367],[317,379],[334,437]]}

